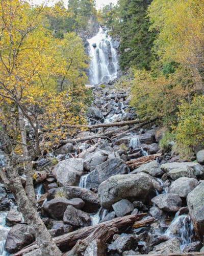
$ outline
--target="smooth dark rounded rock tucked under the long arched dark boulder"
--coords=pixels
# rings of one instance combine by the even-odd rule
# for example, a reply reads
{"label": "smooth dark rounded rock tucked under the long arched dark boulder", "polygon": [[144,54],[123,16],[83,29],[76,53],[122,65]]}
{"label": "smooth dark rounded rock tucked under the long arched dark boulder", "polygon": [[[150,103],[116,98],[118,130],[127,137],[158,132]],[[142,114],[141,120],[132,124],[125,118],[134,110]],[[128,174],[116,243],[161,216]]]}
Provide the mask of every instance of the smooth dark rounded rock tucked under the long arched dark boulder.
{"label": "smooth dark rounded rock tucked under the long arched dark boulder", "polygon": [[46,202],[43,206],[44,211],[55,219],[62,220],[64,212],[68,205],[72,205],[75,208],[81,209],[84,207],[84,201],[81,198],[66,199],[66,198],[55,198]]}

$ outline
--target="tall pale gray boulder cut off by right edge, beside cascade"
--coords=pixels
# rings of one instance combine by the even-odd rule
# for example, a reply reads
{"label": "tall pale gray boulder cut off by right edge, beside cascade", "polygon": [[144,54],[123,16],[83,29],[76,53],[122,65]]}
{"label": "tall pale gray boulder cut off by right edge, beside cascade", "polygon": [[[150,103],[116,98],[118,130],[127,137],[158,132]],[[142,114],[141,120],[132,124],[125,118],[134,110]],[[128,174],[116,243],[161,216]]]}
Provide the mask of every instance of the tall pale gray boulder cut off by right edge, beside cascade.
{"label": "tall pale gray boulder cut off by right edge, beside cascade", "polygon": [[187,196],[189,214],[196,233],[204,236],[204,182],[201,182]]}

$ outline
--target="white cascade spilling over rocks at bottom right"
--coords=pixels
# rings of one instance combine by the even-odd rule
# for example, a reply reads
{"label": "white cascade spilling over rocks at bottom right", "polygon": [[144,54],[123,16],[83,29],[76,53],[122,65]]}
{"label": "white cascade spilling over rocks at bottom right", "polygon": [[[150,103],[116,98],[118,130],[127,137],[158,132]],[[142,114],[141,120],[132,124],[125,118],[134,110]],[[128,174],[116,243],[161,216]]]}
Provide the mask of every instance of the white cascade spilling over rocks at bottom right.
{"label": "white cascade spilling over rocks at bottom right", "polygon": [[193,226],[189,215],[184,214],[178,216],[178,214],[176,214],[164,234],[170,238],[178,238],[181,250],[183,250],[186,244],[191,243],[191,237],[193,234]]}

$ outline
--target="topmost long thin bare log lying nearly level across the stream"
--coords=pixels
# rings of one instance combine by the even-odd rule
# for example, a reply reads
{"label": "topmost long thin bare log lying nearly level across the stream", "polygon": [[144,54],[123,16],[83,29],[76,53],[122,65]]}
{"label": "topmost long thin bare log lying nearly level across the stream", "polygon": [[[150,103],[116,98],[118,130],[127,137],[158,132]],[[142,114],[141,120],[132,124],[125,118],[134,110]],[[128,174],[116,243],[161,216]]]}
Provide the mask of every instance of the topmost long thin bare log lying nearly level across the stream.
{"label": "topmost long thin bare log lying nearly level across the stream", "polygon": [[135,124],[139,123],[139,119],[135,120],[128,120],[128,121],[121,121],[121,122],[113,122],[113,123],[99,123],[99,124],[92,124],[92,125],[69,125],[69,124],[63,124],[63,127],[66,128],[87,128],[87,129],[93,129],[93,128],[102,128],[102,127],[112,127],[112,126],[123,126],[126,124]]}

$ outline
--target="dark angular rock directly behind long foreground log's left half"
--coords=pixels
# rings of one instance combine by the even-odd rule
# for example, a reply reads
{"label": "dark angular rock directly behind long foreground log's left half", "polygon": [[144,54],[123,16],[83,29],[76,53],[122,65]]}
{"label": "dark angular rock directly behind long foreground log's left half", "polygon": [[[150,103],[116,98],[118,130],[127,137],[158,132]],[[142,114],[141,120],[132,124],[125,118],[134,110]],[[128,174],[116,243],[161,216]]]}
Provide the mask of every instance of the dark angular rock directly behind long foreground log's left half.
{"label": "dark angular rock directly behind long foreground log's left half", "polygon": [[68,205],[64,212],[63,222],[74,227],[86,227],[91,225],[91,218],[86,212]]}

